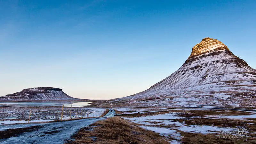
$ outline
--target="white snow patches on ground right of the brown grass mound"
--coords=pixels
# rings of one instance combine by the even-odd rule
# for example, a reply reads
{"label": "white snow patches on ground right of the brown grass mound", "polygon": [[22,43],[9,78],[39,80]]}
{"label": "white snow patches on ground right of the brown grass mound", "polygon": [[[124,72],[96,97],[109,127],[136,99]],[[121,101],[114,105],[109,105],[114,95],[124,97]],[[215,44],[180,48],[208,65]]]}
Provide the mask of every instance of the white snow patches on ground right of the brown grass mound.
{"label": "white snow patches on ground right of the brown grass mound", "polygon": [[[127,109],[123,109],[127,110]],[[128,109],[131,110],[131,109]],[[133,109],[134,110],[134,109]],[[180,110],[178,110],[180,111]],[[158,115],[149,115],[149,116],[134,116],[134,117],[123,117],[126,120],[131,122],[140,124],[140,127],[151,130],[154,132],[159,133],[166,138],[169,138],[170,143],[181,143],[182,136],[180,135],[179,131],[183,132],[192,132],[192,133],[200,133],[200,134],[219,134],[222,131],[236,131],[236,128],[225,127],[225,126],[214,126],[214,125],[196,125],[190,124],[188,125],[184,121],[179,120],[186,120],[186,119],[197,119],[197,118],[208,118],[208,119],[219,119],[219,118],[226,118],[230,119],[239,119],[244,120],[244,118],[255,118],[256,114],[252,112],[252,115],[240,115],[240,116],[221,116],[221,115],[204,115],[201,116],[191,116],[191,117],[180,117],[177,114],[184,114],[183,112],[172,112],[172,113],[164,113]],[[250,123],[248,123],[250,124]],[[241,125],[243,127],[243,125]]]}

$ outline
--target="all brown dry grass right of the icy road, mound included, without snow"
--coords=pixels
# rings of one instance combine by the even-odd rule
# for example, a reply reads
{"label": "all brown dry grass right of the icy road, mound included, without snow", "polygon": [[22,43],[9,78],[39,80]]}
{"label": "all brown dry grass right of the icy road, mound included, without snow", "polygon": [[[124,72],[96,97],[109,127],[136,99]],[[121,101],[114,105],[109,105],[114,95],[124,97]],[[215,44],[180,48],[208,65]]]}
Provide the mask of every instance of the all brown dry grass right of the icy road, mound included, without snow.
{"label": "all brown dry grass right of the icy road, mound included, without snow", "polygon": [[[124,114],[122,112],[119,116],[124,117],[140,117],[140,116],[151,116],[160,115],[165,113],[174,112],[177,113],[179,118],[172,119],[173,122],[185,123],[185,125],[209,125],[217,127],[229,127],[234,129],[245,129],[249,136],[247,140],[244,139],[221,139],[217,133],[192,133],[183,132],[176,129],[175,124],[161,124],[162,121],[145,121],[156,127],[165,127],[177,130],[181,135],[181,141],[185,144],[243,144],[243,143],[254,143],[256,144],[256,119],[247,118],[246,120],[239,119],[227,119],[227,118],[213,118],[214,116],[239,116],[239,115],[252,115],[249,112],[235,111],[235,110],[174,110],[169,109],[167,111],[158,112],[146,112],[136,114]],[[193,118],[191,116],[200,116]],[[209,117],[213,116],[213,117]],[[161,120],[161,119],[158,119]],[[76,135],[74,135],[75,141],[71,143],[166,143],[165,140],[173,139],[171,136],[166,137],[165,140],[162,136],[159,136],[155,132],[144,130],[138,125],[120,119],[119,117],[109,118],[105,121],[99,121],[92,124],[89,127],[81,129]],[[143,125],[143,124],[142,124]],[[95,127],[96,126],[96,127]]]}

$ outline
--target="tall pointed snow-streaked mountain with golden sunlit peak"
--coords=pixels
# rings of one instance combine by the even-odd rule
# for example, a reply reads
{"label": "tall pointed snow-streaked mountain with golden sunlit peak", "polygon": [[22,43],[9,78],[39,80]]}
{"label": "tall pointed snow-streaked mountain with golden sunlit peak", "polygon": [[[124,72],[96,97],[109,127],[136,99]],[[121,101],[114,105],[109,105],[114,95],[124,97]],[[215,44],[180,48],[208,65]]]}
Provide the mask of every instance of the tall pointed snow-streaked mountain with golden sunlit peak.
{"label": "tall pointed snow-streaked mountain with golden sunlit peak", "polygon": [[255,107],[256,70],[222,42],[204,38],[185,63],[149,89],[114,103],[189,103]]}

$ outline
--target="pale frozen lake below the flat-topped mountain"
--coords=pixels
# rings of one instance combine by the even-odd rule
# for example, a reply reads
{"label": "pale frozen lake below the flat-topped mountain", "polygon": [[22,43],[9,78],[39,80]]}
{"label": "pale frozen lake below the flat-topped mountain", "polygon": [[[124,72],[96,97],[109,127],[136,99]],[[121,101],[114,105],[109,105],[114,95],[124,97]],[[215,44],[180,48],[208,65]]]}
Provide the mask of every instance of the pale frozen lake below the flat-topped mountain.
{"label": "pale frozen lake below the flat-topped mountain", "polygon": [[0,106],[5,107],[41,107],[41,106],[62,106],[65,107],[84,107],[84,106],[90,106],[90,102],[65,102],[65,101],[53,101],[53,102],[0,102]]}

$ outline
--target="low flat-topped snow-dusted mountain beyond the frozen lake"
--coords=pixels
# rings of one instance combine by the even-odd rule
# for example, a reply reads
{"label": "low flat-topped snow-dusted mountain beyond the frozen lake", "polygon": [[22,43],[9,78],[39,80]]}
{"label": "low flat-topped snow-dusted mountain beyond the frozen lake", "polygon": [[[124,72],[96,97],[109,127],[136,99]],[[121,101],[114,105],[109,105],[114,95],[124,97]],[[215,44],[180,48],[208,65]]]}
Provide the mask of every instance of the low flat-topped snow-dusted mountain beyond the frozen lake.
{"label": "low flat-topped snow-dusted mountain beyond the frozen lake", "polygon": [[0,100],[79,100],[68,96],[62,89],[53,87],[36,87],[24,89],[21,92],[7,94]]}

